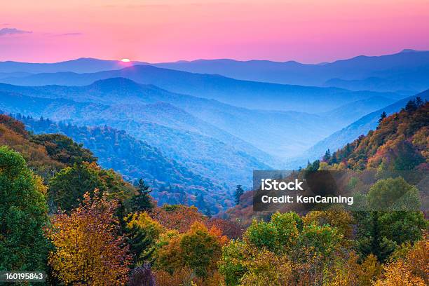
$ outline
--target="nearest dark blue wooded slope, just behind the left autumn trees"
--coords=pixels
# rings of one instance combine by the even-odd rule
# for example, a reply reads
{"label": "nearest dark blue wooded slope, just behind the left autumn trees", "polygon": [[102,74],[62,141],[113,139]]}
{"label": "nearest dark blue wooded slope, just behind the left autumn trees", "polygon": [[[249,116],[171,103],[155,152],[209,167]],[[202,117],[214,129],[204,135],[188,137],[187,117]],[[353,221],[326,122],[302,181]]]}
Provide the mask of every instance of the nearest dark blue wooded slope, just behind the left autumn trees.
{"label": "nearest dark blue wooded slope, just behind the left autumn trees", "polygon": [[[15,115],[15,118],[25,123],[28,130],[37,134],[29,137],[29,140],[45,146],[48,153],[51,146],[69,143],[71,139],[63,136],[67,135],[93,151],[103,168],[120,172],[128,182],[144,179],[144,182],[151,185],[152,196],[160,205],[163,203],[196,205],[202,210],[210,209],[212,213],[231,206],[231,194],[226,186],[219,186],[210,179],[196,175],[177,161],[165,157],[158,149],[135,139],[125,131],[107,126],[79,127],[43,118],[36,120],[20,114]],[[83,159],[83,161],[93,160]]]}

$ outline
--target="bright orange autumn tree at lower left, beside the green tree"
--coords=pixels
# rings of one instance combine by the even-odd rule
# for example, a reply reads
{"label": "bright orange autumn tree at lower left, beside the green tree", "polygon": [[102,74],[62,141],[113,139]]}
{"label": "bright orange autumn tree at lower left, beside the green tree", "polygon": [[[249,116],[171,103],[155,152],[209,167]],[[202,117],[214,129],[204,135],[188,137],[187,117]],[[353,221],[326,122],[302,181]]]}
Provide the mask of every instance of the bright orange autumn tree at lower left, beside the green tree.
{"label": "bright orange autumn tree at lower left, beside the green tree", "polygon": [[116,200],[95,191],[79,207],[53,219],[48,237],[55,246],[49,264],[65,285],[125,285],[131,256],[118,236]]}

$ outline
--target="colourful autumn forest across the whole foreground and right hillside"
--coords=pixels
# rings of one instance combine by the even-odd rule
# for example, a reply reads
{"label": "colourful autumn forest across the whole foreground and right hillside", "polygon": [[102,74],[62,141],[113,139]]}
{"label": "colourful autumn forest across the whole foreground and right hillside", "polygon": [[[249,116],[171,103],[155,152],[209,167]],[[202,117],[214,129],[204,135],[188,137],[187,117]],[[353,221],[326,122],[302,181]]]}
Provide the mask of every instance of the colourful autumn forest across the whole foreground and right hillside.
{"label": "colourful autumn forest across the whole foreground and right hillside", "polygon": [[[36,130],[36,121],[25,120]],[[428,102],[410,101],[301,171],[427,170],[428,122]],[[71,128],[93,132],[95,142],[97,132],[119,136]],[[0,116],[0,145],[0,270],[46,271],[48,285],[429,283],[423,212],[335,208],[252,220],[252,192],[237,187],[236,207],[220,219],[197,201],[158,205],[149,171],[130,184],[116,172],[130,165],[102,168],[90,149],[65,135],[34,135],[10,116]],[[402,177],[381,177],[365,199],[391,186],[415,188]]]}

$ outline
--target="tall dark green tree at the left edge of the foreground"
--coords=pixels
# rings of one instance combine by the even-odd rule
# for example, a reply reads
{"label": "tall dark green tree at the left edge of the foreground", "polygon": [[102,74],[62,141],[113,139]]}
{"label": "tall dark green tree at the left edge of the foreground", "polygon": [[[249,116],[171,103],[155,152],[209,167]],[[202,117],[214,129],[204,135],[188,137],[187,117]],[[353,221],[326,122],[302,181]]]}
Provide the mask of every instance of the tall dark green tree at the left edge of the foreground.
{"label": "tall dark green tree at the left edge of the foreground", "polygon": [[42,271],[48,243],[46,187],[24,158],[0,147],[0,270]]}

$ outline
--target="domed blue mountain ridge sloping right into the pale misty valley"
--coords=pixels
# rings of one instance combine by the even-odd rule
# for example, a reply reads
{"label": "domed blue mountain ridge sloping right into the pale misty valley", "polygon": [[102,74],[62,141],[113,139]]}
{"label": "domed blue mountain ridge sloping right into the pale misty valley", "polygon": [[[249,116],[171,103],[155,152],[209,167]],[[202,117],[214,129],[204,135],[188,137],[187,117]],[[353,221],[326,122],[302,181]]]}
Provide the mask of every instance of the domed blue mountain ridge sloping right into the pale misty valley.
{"label": "domed blue mountain ridge sloping right into the pale misty valley", "polygon": [[[105,79],[89,86],[73,87],[0,84],[0,90],[43,98],[66,98],[76,102],[114,103],[114,106],[107,110],[109,112],[97,114],[100,123],[101,119],[111,120],[109,114],[119,114],[121,117],[118,118],[123,121],[131,119],[182,128],[219,139],[259,161],[266,161],[268,165],[275,163],[272,156],[293,156],[334,132],[339,125],[344,125],[339,121],[325,120],[325,116],[303,112],[234,107],[215,100],[170,93],[156,86],[140,85],[123,78]],[[174,107],[159,102],[166,102]],[[126,112],[121,112],[123,110]]]}

